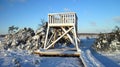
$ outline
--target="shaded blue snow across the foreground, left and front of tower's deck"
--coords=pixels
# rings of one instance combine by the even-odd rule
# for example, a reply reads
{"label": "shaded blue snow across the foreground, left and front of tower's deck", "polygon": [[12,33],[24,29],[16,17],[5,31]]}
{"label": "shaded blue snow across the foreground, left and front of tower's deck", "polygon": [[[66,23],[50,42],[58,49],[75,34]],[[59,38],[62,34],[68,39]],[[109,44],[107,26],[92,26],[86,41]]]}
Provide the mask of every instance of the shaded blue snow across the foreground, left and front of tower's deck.
{"label": "shaded blue snow across the foreground, left and front of tower's deck", "polygon": [[76,57],[39,57],[23,50],[1,50],[0,63],[0,67],[82,67]]}

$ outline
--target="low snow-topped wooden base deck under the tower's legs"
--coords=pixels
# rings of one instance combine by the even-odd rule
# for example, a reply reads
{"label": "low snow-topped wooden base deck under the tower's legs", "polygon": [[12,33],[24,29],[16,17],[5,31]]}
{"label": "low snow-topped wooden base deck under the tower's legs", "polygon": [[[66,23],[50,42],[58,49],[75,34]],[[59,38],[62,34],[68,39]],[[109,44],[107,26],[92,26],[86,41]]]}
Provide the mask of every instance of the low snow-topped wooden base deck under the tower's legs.
{"label": "low snow-topped wooden base deck under the tower's legs", "polygon": [[59,57],[79,57],[80,52],[76,51],[34,51],[34,54],[38,54],[40,56],[59,56]]}

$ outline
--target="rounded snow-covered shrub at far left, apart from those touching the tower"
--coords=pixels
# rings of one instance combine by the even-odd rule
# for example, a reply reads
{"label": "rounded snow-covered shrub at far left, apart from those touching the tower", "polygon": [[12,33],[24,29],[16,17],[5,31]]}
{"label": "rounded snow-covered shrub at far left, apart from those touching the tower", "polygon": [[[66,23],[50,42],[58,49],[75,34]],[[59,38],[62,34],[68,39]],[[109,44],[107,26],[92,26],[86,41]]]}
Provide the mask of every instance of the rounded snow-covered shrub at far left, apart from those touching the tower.
{"label": "rounded snow-covered shrub at far left, apart from those touching the tower", "polygon": [[34,35],[34,30],[31,28],[20,29],[14,34],[7,34],[2,44],[4,44],[4,49],[20,47],[26,45],[27,41]]}

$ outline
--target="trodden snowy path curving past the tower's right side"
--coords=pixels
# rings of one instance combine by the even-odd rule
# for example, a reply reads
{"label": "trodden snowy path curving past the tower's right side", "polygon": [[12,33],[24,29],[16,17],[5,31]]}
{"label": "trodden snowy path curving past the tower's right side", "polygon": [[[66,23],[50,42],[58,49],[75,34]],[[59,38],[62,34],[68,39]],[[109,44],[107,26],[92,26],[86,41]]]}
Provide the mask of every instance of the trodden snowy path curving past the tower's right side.
{"label": "trodden snowy path curving past the tower's right side", "polygon": [[81,58],[84,60],[86,67],[120,67],[108,57],[98,54],[91,49],[95,39],[81,40]]}

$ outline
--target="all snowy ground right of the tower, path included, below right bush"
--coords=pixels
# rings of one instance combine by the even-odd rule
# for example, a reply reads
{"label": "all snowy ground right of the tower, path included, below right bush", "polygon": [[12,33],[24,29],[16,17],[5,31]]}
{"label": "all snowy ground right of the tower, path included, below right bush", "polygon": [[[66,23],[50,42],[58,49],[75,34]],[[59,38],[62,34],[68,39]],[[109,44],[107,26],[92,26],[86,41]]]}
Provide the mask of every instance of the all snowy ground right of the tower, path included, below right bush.
{"label": "all snowy ground right of the tower, path included, below right bush", "polygon": [[[95,39],[81,39],[82,57],[90,67],[120,67],[120,52],[97,53],[91,46]],[[90,62],[91,61],[91,62]]]}

